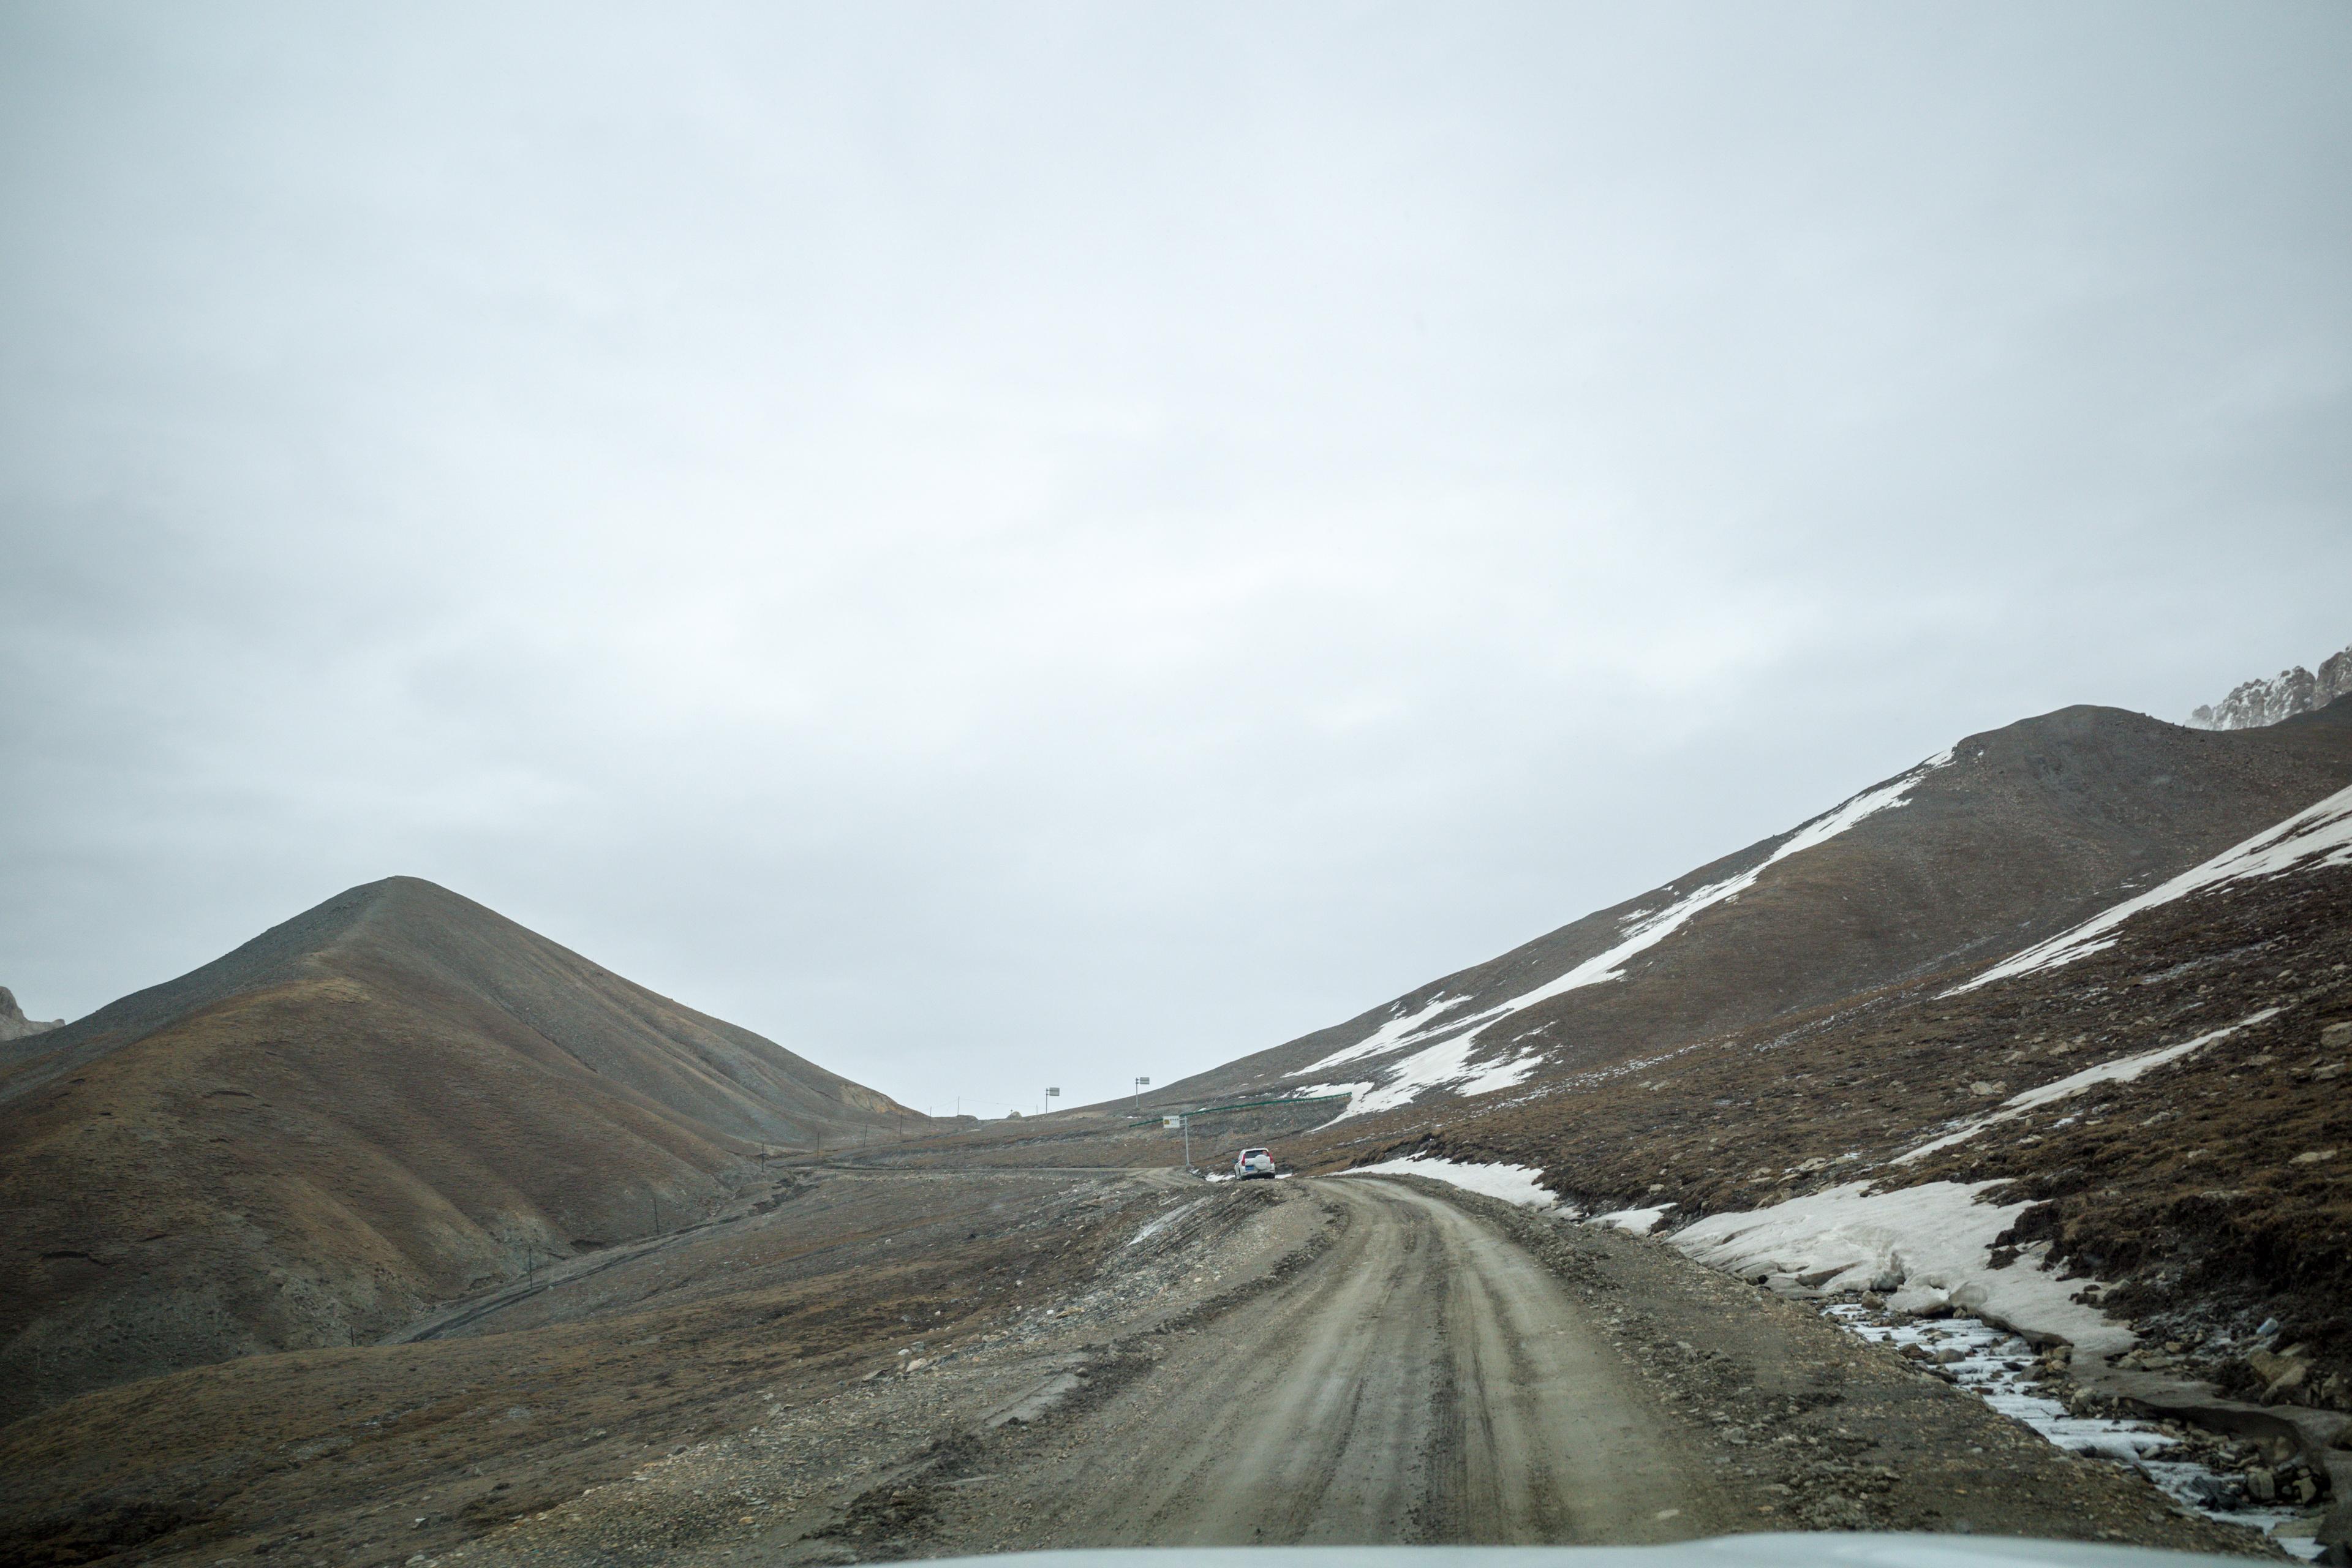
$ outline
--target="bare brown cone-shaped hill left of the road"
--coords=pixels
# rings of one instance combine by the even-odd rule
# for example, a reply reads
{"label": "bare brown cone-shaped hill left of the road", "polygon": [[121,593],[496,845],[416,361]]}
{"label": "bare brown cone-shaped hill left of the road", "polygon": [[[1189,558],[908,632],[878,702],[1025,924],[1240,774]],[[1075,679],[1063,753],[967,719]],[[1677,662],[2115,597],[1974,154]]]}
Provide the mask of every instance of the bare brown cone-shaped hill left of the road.
{"label": "bare brown cone-shaped hill left of the road", "polygon": [[343,1345],[922,1124],[414,877],[0,1046],[5,1415]]}

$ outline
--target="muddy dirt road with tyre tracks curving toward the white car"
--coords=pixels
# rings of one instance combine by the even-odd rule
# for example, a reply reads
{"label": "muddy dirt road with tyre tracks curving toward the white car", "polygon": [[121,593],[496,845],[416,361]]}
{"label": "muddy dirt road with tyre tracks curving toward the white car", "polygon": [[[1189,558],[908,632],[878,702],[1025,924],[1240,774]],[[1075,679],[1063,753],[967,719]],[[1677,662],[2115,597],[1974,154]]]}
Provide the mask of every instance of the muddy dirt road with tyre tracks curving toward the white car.
{"label": "muddy dirt road with tyre tracks curving toward the white car", "polygon": [[1014,1481],[1054,1544],[1642,1542],[1708,1528],[1696,1465],[1559,1284],[1399,1182],[1315,1197],[1338,1241],[1181,1335]]}

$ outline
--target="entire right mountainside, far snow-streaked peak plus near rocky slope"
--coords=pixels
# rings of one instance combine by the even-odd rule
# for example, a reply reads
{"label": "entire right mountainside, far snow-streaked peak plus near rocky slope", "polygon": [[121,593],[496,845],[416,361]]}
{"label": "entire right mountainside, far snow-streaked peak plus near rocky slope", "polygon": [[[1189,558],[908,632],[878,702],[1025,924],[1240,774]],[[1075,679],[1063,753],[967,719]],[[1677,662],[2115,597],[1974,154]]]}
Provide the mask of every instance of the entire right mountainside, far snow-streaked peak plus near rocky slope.
{"label": "entire right mountainside, far snow-streaked peak plus near rocky slope", "polygon": [[[1352,1077],[1284,1161],[1510,1166],[1790,1295],[1985,1316],[2058,1342],[2089,1408],[2272,1422],[2326,1502],[2352,1432],[2347,1072],[2336,703],[2230,733],[2067,710],[1976,736],[1176,1088]],[[2352,1540],[2352,1507],[2324,1530]]]}

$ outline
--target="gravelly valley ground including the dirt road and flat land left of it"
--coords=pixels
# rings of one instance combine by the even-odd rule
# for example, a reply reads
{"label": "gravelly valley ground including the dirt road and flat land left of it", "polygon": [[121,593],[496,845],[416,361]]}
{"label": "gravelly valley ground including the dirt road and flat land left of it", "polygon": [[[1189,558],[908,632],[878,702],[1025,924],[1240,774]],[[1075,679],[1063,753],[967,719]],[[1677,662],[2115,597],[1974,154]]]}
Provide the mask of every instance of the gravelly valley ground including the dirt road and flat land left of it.
{"label": "gravelly valley ground including the dirt road and flat land left of it", "polygon": [[14,1563],[1983,1530],[2270,1552],[1816,1312],[1416,1180],[790,1168],[409,1342],[0,1432]]}

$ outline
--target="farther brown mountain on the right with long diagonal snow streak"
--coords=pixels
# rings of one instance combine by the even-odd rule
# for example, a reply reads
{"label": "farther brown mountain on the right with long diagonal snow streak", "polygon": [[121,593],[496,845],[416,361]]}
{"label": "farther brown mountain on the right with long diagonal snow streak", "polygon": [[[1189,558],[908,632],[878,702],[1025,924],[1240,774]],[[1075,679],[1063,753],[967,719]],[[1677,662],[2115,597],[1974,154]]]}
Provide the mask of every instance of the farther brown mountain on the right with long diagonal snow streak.
{"label": "farther brown mountain on the right with long diagonal snow streak", "polygon": [[2345,783],[2352,703],[2244,731],[2063,708],[1155,1103],[1352,1086],[1359,1119],[1679,1051],[2013,952]]}

